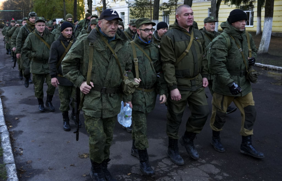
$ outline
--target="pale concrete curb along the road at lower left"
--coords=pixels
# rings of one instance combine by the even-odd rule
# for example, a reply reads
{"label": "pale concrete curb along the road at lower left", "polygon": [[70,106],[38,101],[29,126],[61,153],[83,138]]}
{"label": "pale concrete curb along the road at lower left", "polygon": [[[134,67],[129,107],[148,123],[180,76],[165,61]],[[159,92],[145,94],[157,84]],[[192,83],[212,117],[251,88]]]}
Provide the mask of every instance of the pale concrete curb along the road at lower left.
{"label": "pale concrete curb along the road at lower left", "polygon": [[3,162],[6,164],[7,181],[19,181],[14,155],[12,152],[11,141],[9,132],[5,123],[4,111],[2,106],[2,100],[0,98],[0,136],[1,147],[3,148]]}

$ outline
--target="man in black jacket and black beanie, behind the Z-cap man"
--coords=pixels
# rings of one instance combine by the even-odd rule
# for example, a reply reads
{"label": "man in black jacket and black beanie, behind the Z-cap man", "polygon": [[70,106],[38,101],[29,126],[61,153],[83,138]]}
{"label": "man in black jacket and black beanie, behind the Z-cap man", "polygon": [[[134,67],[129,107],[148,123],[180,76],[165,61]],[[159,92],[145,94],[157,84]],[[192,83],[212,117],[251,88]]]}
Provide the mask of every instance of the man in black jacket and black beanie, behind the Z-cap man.
{"label": "man in black jacket and black beanie, behind the Z-cap man", "polygon": [[[60,98],[60,111],[63,114],[63,129],[70,131],[70,119],[68,117],[68,111],[70,110],[69,104],[72,107],[70,118],[76,123],[76,115],[74,111],[74,94],[75,87],[68,79],[63,77],[61,62],[66,56],[66,53],[76,41],[73,38],[73,25],[70,22],[64,22],[61,26],[61,35],[51,45],[50,56],[49,56],[49,68],[51,83],[54,87],[59,87],[59,98]],[[73,100],[70,102],[70,98]],[[81,127],[81,122],[79,121]]]}

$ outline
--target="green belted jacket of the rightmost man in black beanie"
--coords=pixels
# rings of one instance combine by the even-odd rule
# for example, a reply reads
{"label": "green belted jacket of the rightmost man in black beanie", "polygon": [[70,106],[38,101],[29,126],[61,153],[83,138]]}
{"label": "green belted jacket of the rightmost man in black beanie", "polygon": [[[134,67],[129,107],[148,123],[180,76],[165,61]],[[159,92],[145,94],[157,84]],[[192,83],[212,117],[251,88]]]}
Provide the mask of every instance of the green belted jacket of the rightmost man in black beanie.
{"label": "green belted jacket of the rightmost man in black beanie", "polygon": [[[247,59],[249,57],[249,49],[246,39],[245,31],[239,31],[233,27],[228,21],[221,23],[221,28],[223,32],[228,33],[233,36],[234,39],[241,46],[244,56]],[[230,38],[230,37],[229,37]],[[246,71],[246,66],[244,64],[243,57],[233,39],[230,38],[231,48],[228,49],[226,39],[223,35],[217,36],[214,41],[212,41],[211,49],[211,72],[215,75],[212,89],[214,92],[228,95],[228,96],[245,96],[252,91],[251,83],[246,79],[246,76],[235,76],[231,75],[231,71]],[[256,45],[250,34],[250,43],[252,49],[252,57],[256,58]],[[248,60],[246,60],[247,66],[249,67]],[[229,85],[235,82],[238,84],[242,93],[238,95],[232,95],[229,91]]]}

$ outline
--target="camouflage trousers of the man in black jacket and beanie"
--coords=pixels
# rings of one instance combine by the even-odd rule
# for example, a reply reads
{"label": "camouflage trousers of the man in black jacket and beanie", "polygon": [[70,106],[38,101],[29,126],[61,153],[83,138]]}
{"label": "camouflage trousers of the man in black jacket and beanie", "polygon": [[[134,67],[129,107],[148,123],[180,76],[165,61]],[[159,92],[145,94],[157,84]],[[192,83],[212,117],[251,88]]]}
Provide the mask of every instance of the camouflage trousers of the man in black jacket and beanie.
{"label": "camouflage trousers of the man in black jacket and beanie", "polygon": [[[66,112],[70,110],[70,106],[74,108],[74,94],[75,94],[74,86],[63,86],[59,85],[59,98],[60,98],[60,111]],[[70,101],[70,98],[73,98]],[[70,104],[70,106],[69,106]]]}

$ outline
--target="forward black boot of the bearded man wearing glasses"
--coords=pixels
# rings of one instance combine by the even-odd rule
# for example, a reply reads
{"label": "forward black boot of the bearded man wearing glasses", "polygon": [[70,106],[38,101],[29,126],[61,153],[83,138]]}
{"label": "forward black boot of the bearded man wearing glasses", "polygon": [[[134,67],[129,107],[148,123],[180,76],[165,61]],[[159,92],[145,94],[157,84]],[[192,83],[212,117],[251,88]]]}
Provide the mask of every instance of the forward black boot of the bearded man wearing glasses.
{"label": "forward black boot of the bearded man wearing glasses", "polygon": [[145,176],[151,176],[155,175],[155,171],[152,169],[150,163],[149,163],[149,156],[147,153],[147,149],[145,150],[139,150],[138,149],[138,155],[140,160],[140,170]]}

